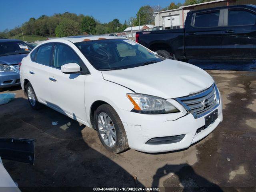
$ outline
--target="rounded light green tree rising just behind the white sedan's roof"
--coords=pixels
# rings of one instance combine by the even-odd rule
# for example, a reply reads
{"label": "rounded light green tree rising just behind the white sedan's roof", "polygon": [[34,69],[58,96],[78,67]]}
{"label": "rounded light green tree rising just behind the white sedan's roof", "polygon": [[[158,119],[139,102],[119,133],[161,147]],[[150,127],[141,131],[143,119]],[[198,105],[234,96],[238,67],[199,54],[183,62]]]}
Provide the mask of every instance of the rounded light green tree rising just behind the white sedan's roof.
{"label": "rounded light green tree rising just behind the white sedan's roof", "polygon": [[71,19],[63,19],[55,29],[56,37],[66,37],[80,34],[79,23]]}

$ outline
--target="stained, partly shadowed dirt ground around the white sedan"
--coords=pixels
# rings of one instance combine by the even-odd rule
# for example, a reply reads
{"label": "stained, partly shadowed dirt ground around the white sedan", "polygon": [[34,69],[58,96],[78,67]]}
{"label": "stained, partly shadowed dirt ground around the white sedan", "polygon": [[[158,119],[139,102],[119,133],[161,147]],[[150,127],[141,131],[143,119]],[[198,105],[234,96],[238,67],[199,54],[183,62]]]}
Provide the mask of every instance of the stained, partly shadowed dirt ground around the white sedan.
{"label": "stained, partly shadowed dirt ground around the white sedan", "polygon": [[[20,88],[5,90],[16,93],[16,98],[0,106],[0,137],[31,138],[36,146],[34,165],[4,160],[4,166],[22,191],[58,189],[54,187],[86,191],[83,187],[88,186],[254,191],[256,72],[207,72],[222,94],[224,121],[190,148],[161,154],[135,150],[111,154],[95,130],[48,107],[33,110]],[[52,121],[59,124],[53,126]]]}

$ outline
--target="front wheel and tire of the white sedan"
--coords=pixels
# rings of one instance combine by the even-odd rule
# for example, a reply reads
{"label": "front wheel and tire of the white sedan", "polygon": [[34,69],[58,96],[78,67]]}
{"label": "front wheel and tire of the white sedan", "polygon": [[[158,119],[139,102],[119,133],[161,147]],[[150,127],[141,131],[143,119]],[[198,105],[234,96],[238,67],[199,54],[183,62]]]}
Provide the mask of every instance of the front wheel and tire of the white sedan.
{"label": "front wheel and tire of the white sedan", "polygon": [[102,104],[94,112],[94,122],[102,145],[115,154],[129,148],[124,125],[108,104]]}

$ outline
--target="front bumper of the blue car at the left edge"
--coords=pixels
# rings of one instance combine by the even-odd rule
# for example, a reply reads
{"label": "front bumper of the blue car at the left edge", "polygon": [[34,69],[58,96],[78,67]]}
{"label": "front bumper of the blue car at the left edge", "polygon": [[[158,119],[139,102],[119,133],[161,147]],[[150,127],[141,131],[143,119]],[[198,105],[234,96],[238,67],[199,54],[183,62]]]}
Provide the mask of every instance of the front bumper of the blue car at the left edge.
{"label": "front bumper of the blue car at the left edge", "polygon": [[0,88],[20,85],[18,72],[0,72]]}

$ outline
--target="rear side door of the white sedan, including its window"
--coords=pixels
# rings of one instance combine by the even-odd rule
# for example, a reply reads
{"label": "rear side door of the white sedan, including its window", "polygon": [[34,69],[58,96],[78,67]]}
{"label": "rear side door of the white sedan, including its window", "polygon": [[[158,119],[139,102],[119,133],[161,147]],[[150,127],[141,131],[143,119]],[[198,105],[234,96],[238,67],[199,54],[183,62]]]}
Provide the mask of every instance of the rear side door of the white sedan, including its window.
{"label": "rear side door of the white sedan, including its window", "polygon": [[51,101],[49,88],[49,70],[52,58],[52,43],[43,44],[34,50],[31,54],[31,62],[28,71],[30,83],[36,93],[37,99],[48,104]]}

